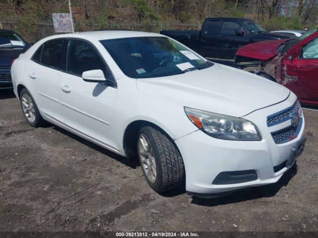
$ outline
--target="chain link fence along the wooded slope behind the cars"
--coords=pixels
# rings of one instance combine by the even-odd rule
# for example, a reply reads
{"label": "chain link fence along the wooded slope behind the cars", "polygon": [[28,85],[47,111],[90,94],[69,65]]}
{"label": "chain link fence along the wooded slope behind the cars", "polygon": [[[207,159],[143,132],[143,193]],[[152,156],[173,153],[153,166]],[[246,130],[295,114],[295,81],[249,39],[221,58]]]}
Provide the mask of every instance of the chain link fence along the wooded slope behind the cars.
{"label": "chain link fence along the wooded slope behind the cars", "polygon": [[[1,29],[12,30],[18,32],[23,38],[29,42],[36,42],[44,37],[60,34],[54,32],[52,23],[37,23],[32,24],[32,29],[26,29],[15,21],[0,21]],[[123,29],[133,31],[155,32],[159,33],[161,30],[200,30],[201,24],[175,24],[175,23],[161,23],[158,24],[105,24],[101,27],[98,24],[76,24],[76,31],[95,31],[95,30],[111,30]]]}

